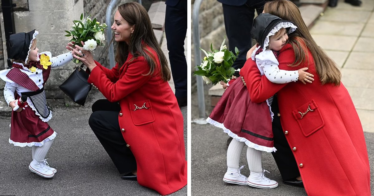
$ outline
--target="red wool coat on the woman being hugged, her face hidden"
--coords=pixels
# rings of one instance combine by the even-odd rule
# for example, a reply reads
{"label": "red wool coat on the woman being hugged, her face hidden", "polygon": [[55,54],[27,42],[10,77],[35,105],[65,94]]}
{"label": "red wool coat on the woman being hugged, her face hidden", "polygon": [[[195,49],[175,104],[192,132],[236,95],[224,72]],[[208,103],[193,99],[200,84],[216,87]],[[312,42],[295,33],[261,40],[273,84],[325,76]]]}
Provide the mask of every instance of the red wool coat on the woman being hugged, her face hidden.
{"label": "red wool coat on the woman being hugged, her face hidden", "polygon": [[240,75],[254,102],[277,93],[282,128],[309,196],[370,196],[368,153],[352,99],[343,84],[321,85],[313,57],[308,55],[309,64],[287,66],[295,60],[287,44],[278,56],[279,69],[308,67],[315,76],[312,84],[271,83],[261,77],[251,59]]}

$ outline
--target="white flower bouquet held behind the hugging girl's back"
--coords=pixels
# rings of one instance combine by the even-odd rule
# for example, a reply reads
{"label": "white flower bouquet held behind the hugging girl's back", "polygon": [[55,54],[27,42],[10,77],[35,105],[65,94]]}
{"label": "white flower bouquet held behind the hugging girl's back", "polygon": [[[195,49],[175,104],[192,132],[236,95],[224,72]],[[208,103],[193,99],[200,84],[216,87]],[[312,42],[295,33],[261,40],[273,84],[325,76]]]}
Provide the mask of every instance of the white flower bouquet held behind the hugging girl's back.
{"label": "white flower bouquet held behind the hugging girl's back", "polygon": [[220,81],[227,83],[235,72],[232,65],[239,54],[239,50],[235,47],[235,54],[227,50],[225,41],[226,37],[221,44],[220,50],[213,49],[211,44],[212,53],[200,48],[206,56],[200,66],[197,66],[199,70],[195,71],[194,75],[201,75],[206,84],[212,83],[215,85]]}

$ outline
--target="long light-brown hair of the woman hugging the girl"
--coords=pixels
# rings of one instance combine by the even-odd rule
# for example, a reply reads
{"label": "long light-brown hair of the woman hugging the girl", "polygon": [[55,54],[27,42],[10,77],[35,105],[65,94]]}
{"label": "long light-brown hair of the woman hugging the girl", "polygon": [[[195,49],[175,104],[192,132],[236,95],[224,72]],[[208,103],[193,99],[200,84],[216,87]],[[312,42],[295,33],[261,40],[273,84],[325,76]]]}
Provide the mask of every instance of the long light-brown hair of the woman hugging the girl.
{"label": "long light-brown hair of the woman hugging the girl", "polygon": [[341,73],[336,63],[313,40],[301,17],[300,10],[294,3],[288,0],[268,1],[265,3],[264,10],[283,20],[291,21],[297,26],[296,31],[289,35],[288,42],[295,52],[295,62],[289,66],[298,66],[301,63],[309,62],[307,55],[307,49],[309,49],[321,83],[340,85]]}

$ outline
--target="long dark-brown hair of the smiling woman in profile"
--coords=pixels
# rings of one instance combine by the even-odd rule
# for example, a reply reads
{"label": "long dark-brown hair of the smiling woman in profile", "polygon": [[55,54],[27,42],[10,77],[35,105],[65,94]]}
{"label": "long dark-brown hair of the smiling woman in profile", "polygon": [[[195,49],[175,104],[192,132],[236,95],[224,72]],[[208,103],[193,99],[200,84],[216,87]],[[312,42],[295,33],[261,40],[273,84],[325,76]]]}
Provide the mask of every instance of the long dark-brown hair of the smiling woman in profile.
{"label": "long dark-brown hair of the smiling woman in profile", "polygon": [[136,2],[122,4],[118,6],[118,11],[129,25],[135,25],[129,44],[126,44],[125,41],[120,41],[117,44],[116,62],[119,65],[118,70],[120,70],[121,66],[126,62],[128,53],[131,53],[134,58],[144,56],[150,68],[146,75],[152,75],[157,68],[157,57],[145,47],[145,45],[147,45],[156,52],[160,60],[160,77],[164,81],[169,81],[171,72],[168,67],[168,61],[154,35],[147,11],[141,4]]}

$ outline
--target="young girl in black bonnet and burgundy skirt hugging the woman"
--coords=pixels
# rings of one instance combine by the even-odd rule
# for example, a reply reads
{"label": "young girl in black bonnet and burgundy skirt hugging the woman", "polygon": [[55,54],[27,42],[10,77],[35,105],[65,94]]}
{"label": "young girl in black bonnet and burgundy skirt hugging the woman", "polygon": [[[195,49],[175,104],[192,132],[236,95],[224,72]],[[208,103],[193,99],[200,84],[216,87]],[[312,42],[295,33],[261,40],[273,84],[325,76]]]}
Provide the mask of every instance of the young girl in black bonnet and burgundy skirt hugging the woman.
{"label": "young girl in black bonnet and burgundy skirt hugging the woman", "polygon": [[[285,71],[278,68],[278,51],[288,40],[287,33],[292,33],[297,27],[290,21],[277,16],[261,13],[254,19],[252,37],[259,46],[252,53],[261,75],[273,83],[289,83],[297,80],[311,82],[312,74],[298,71]],[[261,151],[275,152],[273,144],[272,119],[270,105],[272,98],[263,103],[251,102],[245,81],[242,77],[235,80],[224,92],[207,121],[220,127],[233,137],[227,149],[227,172],[223,181],[227,183],[249,185],[262,189],[278,187],[278,183],[267,178],[261,166]],[[239,159],[245,144],[250,175],[240,174]]]}

